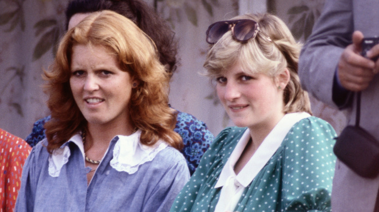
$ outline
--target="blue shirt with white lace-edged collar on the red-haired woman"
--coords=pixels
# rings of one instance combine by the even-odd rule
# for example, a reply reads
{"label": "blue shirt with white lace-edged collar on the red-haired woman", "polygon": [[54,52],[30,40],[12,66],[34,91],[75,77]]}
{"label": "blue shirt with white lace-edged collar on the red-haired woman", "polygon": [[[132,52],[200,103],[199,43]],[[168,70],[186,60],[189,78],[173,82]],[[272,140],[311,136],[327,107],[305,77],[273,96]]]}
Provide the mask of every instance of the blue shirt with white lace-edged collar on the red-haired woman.
{"label": "blue shirt with white lace-edged collar on the red-haired woman", "polygon": [[[42,140],[34,146],[25,163],[16,211],[169,211],[189,179],[183,155],[161,143],[158,147],[139,149],[146,152],[150,148],[148,156],[140,157],[139,153],[133,157],[127,152],[142,145],[135,143],[125,147],[130,142],[128,137],[112,139],[88,185],[86,174],[91,170],[85,167],[80,134],[71,137],[52,155],[44,147],[47,140]],[[139,136],[137,139],[139,141]],[[130,163],[133,160],[137,163]]]}

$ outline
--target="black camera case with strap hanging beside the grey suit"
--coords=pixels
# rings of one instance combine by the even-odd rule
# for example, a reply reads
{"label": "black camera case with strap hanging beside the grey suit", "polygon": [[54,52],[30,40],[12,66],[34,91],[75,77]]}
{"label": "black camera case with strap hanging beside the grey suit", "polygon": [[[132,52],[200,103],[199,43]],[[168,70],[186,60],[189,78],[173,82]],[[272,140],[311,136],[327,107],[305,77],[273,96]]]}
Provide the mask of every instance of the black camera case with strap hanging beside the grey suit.
{"label": "black camera case with strap hanging beside the grey suit", "polygon": [[379,173],[379,142],[359,126],[361,92],[357,93],[355,126],[346,126],[336,139],[333,151],[344,164],[358,175],[375,178]]}

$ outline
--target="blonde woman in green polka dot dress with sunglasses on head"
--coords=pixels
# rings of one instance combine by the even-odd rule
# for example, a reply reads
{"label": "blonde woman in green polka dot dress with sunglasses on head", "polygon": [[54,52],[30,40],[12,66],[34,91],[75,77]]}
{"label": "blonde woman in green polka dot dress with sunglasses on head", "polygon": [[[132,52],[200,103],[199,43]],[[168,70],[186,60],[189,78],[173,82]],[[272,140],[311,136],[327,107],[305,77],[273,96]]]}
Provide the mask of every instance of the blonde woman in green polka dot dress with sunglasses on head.
{"label": "blonde woman in green polka dot dress with sunglasses on head", "polygon": [[236,127],[206,151],[171,212],[330,211],[333,128],[312,117],[300,51],[274,15],[209,26],[204,67]]}

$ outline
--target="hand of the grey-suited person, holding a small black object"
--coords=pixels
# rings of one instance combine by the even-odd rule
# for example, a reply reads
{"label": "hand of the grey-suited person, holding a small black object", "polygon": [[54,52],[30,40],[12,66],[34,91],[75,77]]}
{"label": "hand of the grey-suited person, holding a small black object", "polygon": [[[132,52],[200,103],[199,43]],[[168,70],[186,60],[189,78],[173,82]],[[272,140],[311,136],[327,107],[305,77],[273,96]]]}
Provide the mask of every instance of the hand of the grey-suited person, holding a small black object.
{"label": "hand of the grey-suited person, holding a small black object", "polygon": [[[362,32],[355,31],[352,36],[353,43],[345,48],[338,62],[338,78],[341,85],[349,91],[366,89],[379,71],[379,61],[375,64],[374,61],[360,55],[362,39]],[[375,57],[377,54],[378,45],[367,52],[368,57]]]}

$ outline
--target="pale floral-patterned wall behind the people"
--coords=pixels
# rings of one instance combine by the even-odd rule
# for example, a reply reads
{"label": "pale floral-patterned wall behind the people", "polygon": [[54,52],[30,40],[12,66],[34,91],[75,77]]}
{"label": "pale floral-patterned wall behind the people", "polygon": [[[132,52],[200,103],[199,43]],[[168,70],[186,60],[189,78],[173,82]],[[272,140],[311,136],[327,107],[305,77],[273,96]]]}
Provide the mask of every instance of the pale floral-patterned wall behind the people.
{"label": "pale floral-patterned wall behind the people", "polygon": [[[215,95],[214,85],[201,75],[209,47],[205,31],[215,21],[238,15],[241,0],[146,1],[171,23],[179,40],[180,61],[171,82],[171,105],[206,122],[217,135],[232,123]],[[262,0],[246,5],[254,7],[256,2],[261,4]],[[264,6],[281,17],[302,41],[309,36],[323,4],[323,0],[267,2]],[[0,128],[22,138],[31,132],[34,121],[49,114],[41,75],[52,62],[55,44],[65,31],[67,3],[68,0],[0,0]],[[315,99],[312,110],[337,130],[345,124],[341,112]]]}

